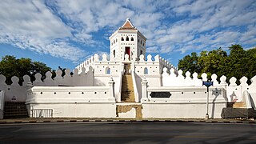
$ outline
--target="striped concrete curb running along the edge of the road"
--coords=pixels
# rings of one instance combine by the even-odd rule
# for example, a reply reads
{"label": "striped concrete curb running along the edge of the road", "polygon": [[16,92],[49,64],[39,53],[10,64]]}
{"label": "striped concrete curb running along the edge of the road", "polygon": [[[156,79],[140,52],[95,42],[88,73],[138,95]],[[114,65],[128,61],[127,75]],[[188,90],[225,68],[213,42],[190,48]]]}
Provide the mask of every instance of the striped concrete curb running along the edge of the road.
{"label": "striped concrete curb running along the edge of the road", "polygon": [[256,124],[256,121],[235,121],[235,120],[187,120],[187,119],[177,119],[177,120],[137,120],[137,119],[104,119],[104,120],[89,120],[89,119],[83,119],[83,120],[77,120],[77,119],[70,119],[70,120],[11,120],[11,121],[0,121],[0,124],[14,124],[14,123],[47,123],[47,122],[206,122],[206,123],[250,123],[250,124]]}

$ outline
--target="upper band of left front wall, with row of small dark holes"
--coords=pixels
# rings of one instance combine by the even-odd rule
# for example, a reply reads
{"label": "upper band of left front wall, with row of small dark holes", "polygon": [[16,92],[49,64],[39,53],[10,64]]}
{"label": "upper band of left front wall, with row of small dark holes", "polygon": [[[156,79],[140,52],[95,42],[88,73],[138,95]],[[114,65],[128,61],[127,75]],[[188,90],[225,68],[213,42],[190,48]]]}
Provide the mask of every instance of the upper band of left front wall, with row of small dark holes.
{"label": "upper band of left front wall, with row of small dark holes", "polygon": [[34,102],[114,102],[109,100],[109,86],[34,86],[27,95],[26,103]]}

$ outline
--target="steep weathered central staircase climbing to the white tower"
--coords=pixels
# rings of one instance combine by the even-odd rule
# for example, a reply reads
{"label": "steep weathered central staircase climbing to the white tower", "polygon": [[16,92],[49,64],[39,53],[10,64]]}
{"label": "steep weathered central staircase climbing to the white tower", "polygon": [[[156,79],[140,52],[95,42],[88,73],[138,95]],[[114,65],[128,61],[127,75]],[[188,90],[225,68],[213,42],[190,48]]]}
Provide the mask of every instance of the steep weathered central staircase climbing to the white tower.
{"label": "steep weathered central staircase climbing to the white tower", "polygon": [[135,102],[134,84],[131,75],[123,75],[122,77],[122,102]]}

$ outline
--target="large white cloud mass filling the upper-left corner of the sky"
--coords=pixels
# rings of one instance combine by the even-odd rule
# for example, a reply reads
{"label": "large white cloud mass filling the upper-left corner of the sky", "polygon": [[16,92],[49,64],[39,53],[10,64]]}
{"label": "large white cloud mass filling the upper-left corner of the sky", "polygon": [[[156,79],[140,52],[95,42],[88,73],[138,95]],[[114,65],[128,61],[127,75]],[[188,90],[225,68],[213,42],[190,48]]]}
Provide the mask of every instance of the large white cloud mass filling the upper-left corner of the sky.
{"label": "large white cloud mass filling the upper-left corner of the sky", "polygon": [[77,61],[85,54],[66,42],[72,36],[70,28],[41,1],[3,1],[0,18],[2,43],[71,61]]}

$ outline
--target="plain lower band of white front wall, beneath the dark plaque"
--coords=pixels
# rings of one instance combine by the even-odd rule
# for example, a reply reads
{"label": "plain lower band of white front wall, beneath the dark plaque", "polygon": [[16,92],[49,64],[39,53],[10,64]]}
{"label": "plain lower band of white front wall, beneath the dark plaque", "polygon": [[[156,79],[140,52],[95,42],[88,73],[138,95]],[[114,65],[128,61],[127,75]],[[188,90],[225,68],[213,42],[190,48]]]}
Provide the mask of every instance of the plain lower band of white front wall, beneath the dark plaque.
{"label": "plain lower band of white front wall, beneath the dark plaque", "polygon": [[[222,118],[225,102],[210,103],[209,117]],[[143,118],[205,118],[206,103],[142,103]]]}

